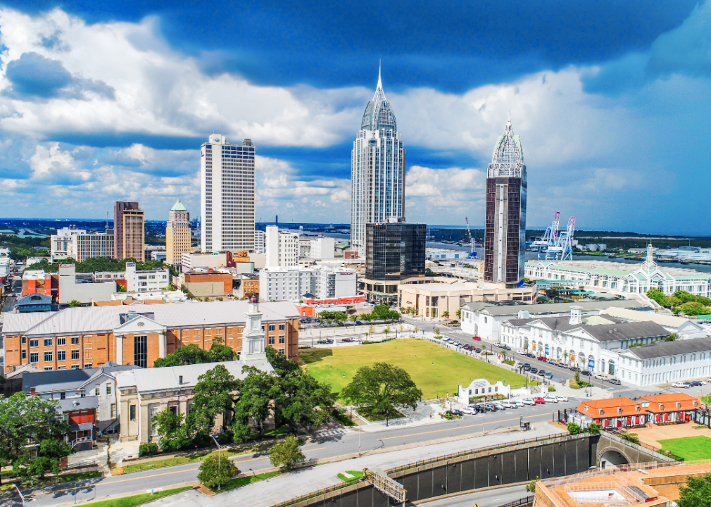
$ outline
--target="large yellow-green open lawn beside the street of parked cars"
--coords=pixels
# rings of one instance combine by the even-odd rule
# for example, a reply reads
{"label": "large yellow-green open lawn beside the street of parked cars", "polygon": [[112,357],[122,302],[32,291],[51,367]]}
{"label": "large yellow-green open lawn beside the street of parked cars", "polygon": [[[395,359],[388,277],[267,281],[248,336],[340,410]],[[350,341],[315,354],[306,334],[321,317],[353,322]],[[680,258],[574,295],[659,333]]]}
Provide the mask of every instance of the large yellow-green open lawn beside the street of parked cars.
{"label": "large yellow-green open lawn beside the street of parked cars", "polygon": [[390,363],[410,373],[423,399],[456,395],[457,383],[469,385],[471,380],[486,378],[490,382],[505,380],[505,384],[525,383],[525,378],[503,368],[464,356],[426,340],[410,338],[387,343],[352,347],[301,349],[299,357],[311,375],[340,392],[362,366],[376,362]]}

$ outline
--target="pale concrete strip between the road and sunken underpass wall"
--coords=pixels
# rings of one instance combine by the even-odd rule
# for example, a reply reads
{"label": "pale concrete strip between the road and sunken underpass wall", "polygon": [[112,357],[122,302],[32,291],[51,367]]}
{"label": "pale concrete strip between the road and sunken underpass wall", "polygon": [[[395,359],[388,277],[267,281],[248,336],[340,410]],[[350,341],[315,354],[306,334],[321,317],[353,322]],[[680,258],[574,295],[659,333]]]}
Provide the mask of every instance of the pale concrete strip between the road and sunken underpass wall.
{"label": "pale concrete strip between the road and sunken underpass wall", "polygon": [[204,496],[197,491],[183,491],[168,498],[151,502],[151,507],[190,506],[190,507],[221,507],[224,505],[240,505],[245,507],[270,507],[301,495],[318,491],[328,486],[341,483],[337,474],[346,470],[391,469],[423,459],[444,456],[469,449],[480,449],[491,445],[503,444],[512,440],[542,437],[547,434],[564,434],[562,430],[541,423],[526,433],[506,432],[498,434],[479,435],[451,442],[440,442],[424,447],[402,449],[381,454],[365,455],[346,461],[313,466],[289,474],[272,477],[254,484],[248,484],[215,496]]}

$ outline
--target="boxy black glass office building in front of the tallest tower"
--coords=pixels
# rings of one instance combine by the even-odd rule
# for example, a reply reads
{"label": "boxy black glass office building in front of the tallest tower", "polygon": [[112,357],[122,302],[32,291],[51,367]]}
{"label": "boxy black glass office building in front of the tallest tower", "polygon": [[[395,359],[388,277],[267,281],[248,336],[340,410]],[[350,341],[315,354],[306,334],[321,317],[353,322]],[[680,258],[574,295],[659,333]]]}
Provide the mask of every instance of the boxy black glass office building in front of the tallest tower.
{"label": "boxy black glass office building in front of the tallest tower", "polygon": [[368,223],[365,226],[365,278],[400,282],[424,277],[424,223]]}

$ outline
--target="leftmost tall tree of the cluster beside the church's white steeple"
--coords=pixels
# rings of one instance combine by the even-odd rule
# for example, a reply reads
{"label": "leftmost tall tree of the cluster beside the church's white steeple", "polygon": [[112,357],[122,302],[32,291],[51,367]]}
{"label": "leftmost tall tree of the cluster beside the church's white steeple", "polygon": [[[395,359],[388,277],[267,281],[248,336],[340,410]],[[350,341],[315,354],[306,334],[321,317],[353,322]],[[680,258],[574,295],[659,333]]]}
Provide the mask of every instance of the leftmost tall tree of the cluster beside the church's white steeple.
{"label": "leftmost tall tree of the cluster beside the church's white steeple", "polygon": [[188,415],[188,425],[194,432],[207,435],[215,427],[215,419],[223,415],[223,428],[230,424],[232,392],[237,382],[224,365],[215,365],[198,377],[193,388],[193,407]]}

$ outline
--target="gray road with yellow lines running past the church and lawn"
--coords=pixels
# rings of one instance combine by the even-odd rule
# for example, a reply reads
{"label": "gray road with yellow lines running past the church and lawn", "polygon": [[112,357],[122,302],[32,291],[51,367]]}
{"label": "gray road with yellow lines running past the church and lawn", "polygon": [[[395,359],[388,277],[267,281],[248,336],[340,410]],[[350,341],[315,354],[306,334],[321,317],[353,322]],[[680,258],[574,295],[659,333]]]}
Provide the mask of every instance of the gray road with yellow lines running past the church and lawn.
{"label": "gray road with yellow lines running past the church and lawn", "polygon": [[[357,453],[360,447],[363,454],[374,449],[395,448],[402,444],[416,442],[432,442],[433,440],[447,437],[464,437],[475,432],[493,431],[500,427],[518,425],[520,417],[531,421],[534,425],[545,422],[557,415],[557,410],[573,408],[579,400],[571,399],[570,402],[561,402],[555,405],[537,405],[509,409],[503,412],[487,412],[486,414],[465,415],[460,420],[442,421],[429,425],[404,427],[400,429],[387,429],[380,432],[358,432],[357,429],[348,429],[342,434],[333,434],[311,440],[302,447],[308,459],[323,459],[341,456],[343,454]],[[524,439],[525,434],[520,434]],[[461,449],[466,450],[466,449]],[[252,472],[271,467],[267,454],[244,454],[233,459],[242,471]],[[126,495],[128,493],[144,493],[151,489],[170,489],[183,484],[197,481],[198,463],[166,467],[141,471],[134,474],[102,477],[65,483],[38,491],[23,491],[24,494],[34,498],[36,507],[56,506],[60,503],[74,501],[88,501],[93,498],[105,496]],[[21,506],[15,491],[0,495],[0,506]]]}

